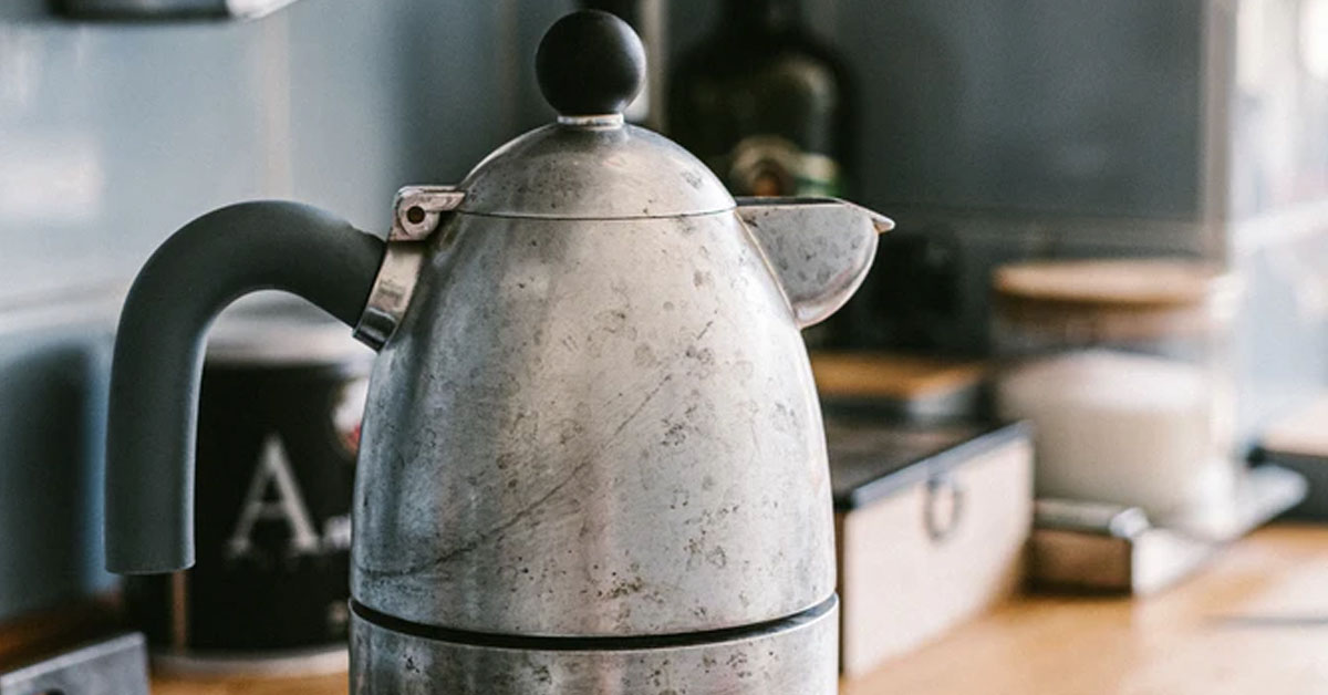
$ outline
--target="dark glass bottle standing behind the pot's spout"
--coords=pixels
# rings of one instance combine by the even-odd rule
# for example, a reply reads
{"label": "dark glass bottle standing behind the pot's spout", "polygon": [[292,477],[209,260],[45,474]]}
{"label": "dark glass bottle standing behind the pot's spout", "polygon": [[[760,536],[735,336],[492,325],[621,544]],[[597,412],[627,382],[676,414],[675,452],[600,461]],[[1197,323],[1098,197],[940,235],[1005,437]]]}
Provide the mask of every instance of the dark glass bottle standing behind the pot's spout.
{"label": "dark glass bottle standing behind the pot's spout", "polygon": [[724,0],[671,78],[673,140],[734,195],[841,195],[853,90],[798,0]]}

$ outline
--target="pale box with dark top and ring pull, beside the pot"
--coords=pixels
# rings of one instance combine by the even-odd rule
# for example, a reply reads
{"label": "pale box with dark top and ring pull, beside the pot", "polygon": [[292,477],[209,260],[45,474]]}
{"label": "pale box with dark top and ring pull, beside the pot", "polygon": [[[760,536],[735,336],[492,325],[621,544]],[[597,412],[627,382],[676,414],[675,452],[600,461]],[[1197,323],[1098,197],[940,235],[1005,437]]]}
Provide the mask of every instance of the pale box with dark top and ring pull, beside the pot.
{"label": "pale box with dark top and ring pull, beside the pot", "polygon": [[1012,597],[1033,521],[1024,424],[902,423],[826,405],[839,663],[865,674]]}

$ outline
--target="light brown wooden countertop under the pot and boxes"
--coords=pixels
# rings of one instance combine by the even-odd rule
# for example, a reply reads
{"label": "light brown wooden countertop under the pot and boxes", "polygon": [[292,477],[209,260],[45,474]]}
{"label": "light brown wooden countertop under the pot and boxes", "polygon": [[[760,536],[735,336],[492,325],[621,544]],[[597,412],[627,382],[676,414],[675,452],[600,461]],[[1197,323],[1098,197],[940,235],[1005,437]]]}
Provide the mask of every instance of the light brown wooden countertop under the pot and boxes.
{"label": "light brown wooden countertop under the pot and boxes", "polygon": [[[339,695],[311,680],[158,679],[157,695]],[[1142,598],[1024,597],[842,695],[1328,692],[1328,526],[1279,525]]]}

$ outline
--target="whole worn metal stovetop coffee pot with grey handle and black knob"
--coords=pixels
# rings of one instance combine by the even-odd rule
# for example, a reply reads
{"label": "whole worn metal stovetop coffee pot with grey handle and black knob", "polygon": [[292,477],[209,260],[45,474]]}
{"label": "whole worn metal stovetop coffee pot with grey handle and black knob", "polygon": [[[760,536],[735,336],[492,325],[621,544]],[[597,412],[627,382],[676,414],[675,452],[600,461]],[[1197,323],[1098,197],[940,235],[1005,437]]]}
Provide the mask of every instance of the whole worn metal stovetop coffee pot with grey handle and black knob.
{"label": "whole worn metal stovetop coffee pot with grey handle and black knob", "polygon": [[798,331],[892,225],[837,199],[734,202],[624,125],[644,53],[611,15],[559,20],[537,66],[558,122],[456,187],[402,189],[386,242],[252,202],[157,250],[116,344],[108,563],[193,562],[203,336],[279,288],[378,349],[352,692],[830,695],[834,524]]}

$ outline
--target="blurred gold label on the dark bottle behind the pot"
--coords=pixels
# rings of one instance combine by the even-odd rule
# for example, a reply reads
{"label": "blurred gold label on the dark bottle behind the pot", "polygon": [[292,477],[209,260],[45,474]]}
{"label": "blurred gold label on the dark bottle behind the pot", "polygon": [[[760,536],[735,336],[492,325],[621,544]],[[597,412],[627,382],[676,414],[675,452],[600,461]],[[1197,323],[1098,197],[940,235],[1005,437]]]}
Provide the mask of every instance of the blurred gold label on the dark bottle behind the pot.
{"label": "blurred gold label on the dark bottle behind the pot", "polygon": [[746,137],[717,171],[734,195],[839,195],[839,165],[780,136]]}

